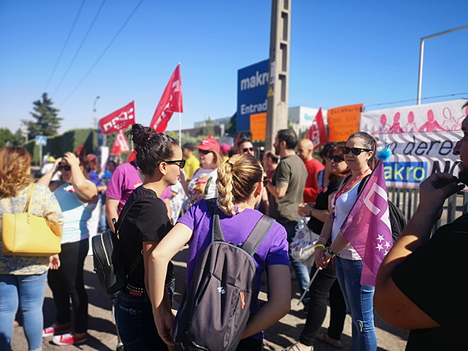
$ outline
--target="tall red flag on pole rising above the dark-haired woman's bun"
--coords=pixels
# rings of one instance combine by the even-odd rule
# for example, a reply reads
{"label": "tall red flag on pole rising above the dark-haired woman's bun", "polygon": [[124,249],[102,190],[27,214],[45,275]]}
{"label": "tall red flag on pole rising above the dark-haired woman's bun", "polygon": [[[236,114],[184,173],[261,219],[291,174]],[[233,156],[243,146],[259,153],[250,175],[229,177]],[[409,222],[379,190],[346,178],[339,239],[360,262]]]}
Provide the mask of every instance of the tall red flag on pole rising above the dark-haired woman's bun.
{"label": "tall red flag on pole rising above the dark-haired woman's bun", "polygon": [[180,63],[172,73],[166,89],[162,93],[160,103],[157,104],[155,114],[152,116],[150,128],[156,130],[157,133],[164,133],[174,112],[184,112]]}

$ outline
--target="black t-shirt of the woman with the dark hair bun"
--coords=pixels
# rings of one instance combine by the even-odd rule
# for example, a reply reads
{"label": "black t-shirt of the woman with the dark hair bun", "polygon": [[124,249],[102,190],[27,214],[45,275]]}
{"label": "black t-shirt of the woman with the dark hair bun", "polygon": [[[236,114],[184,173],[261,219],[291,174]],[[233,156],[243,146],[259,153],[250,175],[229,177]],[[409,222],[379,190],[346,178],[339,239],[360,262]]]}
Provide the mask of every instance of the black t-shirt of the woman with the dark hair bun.
{"label": "black t-shirt of the woman with the dark hair bun", "polygon": [[[121,253],[126,269],[130,267],[138,255],[142,255],[143,241],[161,240],[172,229],[165,203],[157,197],[155,191],[143,186],[138,186],[130,194],[121,213],[125,213],[135,199],[137,201],[128,211],[123,223],[117,223],[118,236],[121,240]],[[172,274],[172,270],[168,272],[168,277],[170,274]],[[143,260],[128,277],[127,282],[136,287],[145,287]]]}

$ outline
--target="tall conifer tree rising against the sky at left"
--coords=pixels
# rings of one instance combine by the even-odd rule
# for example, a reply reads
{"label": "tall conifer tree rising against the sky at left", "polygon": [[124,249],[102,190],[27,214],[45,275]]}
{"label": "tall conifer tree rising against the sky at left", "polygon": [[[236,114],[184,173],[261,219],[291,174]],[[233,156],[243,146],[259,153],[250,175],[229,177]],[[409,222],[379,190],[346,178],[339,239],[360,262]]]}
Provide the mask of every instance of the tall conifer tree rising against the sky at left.
{"label": "tall conifer tree rising against the sky at left", "polygon": [[44,93],[42,100],[33,102],[34,112],[30,112],[35,121],[22,120],[28,128],[28,139],[34,139],[36,135],[52,136],[57,135],[60,128],[60,121],[63,118],[58,117],[58,108],[52,106],[52,99],[49,99],[47,93]]}

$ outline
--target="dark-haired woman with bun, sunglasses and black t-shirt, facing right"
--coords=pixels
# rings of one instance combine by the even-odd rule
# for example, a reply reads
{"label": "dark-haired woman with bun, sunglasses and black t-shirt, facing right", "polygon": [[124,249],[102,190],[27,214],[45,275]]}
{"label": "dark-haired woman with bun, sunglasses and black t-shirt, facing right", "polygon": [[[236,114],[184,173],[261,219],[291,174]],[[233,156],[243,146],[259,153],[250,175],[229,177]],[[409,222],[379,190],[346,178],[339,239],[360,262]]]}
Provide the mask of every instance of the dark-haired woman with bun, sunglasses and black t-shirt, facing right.
{"label": "dark-haired woman with bun, sunglasses and black t-shirt, facing right", "polygon": [[[145,179],[133,191],[122,213],[128,212],[116,230],[121,240],[122,259],[126,269],[141,257],[135,271],[129,275],[127,286],[118,293],[116,322],[126,351],[167,350],[157,333],[150,297],[147,294],[147,262],[157,243],[172,228],[165,203],[159,198],[169,185],[174,185],[184,168],[182,150],[168,135],[156,133],[135,124],[128,131],[135,143],[136,161]],[[169,269],[172,271],[172,269]],[[167,276],[172,277],[172,272]],[[171,313],[169,296],[165,291],[165,306]]]}

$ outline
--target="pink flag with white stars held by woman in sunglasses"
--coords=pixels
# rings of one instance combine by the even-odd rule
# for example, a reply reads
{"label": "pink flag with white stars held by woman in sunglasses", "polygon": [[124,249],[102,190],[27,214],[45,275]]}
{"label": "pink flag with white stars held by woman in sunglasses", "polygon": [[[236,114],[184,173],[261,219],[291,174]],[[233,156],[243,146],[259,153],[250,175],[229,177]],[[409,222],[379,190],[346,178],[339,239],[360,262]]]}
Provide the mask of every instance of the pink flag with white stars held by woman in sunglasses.
{"label": "pink flag with white stars held by woman in sunglasses", "polygon": [[381,160],[342,224],[340,233],[362,257],[361,284],[375,286],[380,264],[393,245]]}

